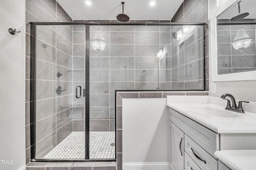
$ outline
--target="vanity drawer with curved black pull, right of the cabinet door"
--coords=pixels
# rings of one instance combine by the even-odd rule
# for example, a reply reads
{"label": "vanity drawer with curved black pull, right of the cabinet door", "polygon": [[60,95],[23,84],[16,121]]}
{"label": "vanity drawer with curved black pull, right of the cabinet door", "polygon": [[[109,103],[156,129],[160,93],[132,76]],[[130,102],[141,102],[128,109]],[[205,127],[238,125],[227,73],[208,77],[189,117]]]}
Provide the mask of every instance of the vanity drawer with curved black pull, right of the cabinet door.
{"label": "vanity drawer with curved black pull, right of the cabinet door", "polygon": [[[218,161],[197,145],[190,137],[184,135],[184,150],[202,170],[218,170]],[[201,159],[201,160],[200,160]]]}

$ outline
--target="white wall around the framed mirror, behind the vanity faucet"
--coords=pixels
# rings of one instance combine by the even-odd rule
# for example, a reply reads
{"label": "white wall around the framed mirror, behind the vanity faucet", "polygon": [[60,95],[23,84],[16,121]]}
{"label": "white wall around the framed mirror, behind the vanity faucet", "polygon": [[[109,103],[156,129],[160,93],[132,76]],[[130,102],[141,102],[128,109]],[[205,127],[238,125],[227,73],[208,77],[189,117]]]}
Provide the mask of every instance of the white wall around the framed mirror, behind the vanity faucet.
{"label": "white wall around the framed mirror, behind the vanity faucet", "polygon": [[[209,2],[209,18],[211,14],[216,10],[216,0],[208,0]],[[210,23],[210,22],[209,22]],[[209,25],[209,33],[210,33]],[[209,51],[211,51],[211,43],[209,36]],[[215,57],[211,56],[210,57]],[[211,59],[209,60],[211,61]],[[209,76],[211,80],[211,63]],[[211,81],[210,81],[211,82]],[[248,100],[256,102],[256,80],[252,81],[228,81],[228,82],[216,82],[216,93],[210,93],[210,96],[220,97],[224,93],[232,94],[236,99]]]}

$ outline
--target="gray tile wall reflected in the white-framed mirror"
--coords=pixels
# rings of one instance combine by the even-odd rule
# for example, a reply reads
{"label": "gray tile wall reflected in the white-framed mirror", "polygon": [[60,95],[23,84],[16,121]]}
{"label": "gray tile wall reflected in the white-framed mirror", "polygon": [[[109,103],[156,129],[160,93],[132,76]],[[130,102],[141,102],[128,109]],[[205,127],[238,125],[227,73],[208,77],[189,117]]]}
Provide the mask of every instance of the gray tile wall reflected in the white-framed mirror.
{"label": "gray tile wall reflected in the white-framed mirror", "polygon": [[[227,19],[218,22],[229,21]],[[248,21],[245,20],[245,21]],[[255,21],[250,19],[249,21]],[[251,44],[245,49],[234,49],[232,42],[238,31],[245,31],[252,38]],[[255,25],[218,25],[218,74],[245,72],[256,70]]]}

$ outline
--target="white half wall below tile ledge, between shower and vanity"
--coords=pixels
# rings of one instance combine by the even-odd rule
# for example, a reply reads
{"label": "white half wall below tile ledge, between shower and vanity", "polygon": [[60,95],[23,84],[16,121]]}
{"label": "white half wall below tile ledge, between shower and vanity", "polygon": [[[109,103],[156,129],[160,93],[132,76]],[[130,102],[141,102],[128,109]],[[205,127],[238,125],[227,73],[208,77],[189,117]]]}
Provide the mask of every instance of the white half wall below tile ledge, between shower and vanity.
{"label": "white half wall below tile ledge, between shower and vanity", "polygon": [[166,98],[124,98],[122,104],[123,169],[168,170]]}

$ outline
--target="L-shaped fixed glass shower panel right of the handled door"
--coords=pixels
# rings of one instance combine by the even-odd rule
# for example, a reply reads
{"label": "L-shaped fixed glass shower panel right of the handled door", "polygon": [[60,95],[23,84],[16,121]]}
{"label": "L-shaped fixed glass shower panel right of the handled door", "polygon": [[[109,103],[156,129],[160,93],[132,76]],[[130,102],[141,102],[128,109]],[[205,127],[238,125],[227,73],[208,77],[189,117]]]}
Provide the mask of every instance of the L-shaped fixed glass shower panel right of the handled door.
{"label": "L-shaped fixed glass shower panel right of the handled door", "polygon": [[204,89],[204,26],[90,25],[90,159],[115,158],[115,90]]}

